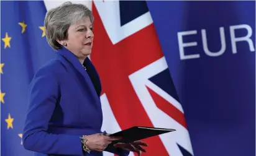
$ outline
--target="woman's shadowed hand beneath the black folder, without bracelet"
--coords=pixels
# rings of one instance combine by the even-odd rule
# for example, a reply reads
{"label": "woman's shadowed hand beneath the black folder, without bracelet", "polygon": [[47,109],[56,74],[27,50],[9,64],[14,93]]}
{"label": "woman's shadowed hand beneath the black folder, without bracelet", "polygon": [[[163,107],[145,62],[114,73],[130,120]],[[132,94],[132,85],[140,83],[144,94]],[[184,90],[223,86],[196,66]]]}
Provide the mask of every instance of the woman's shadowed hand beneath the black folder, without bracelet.
{"label": "woman's shadowed hand beneath the black folder, without bracelet", "polygon": [[114,147],[119,147],[119,148],[122,148],[124,150],[129,150],[129,151],[132,151],[132,152],[136,152],[140,156],[142,154],[142,152],[147,152],[140,145],[143,145],[143,146],[146,146],[146,147],[148,146],[148,144],[143,142],[143,141],[134,141],[134,142],[131,142],[129,144],[117,143],[117,144],[114,144]]}

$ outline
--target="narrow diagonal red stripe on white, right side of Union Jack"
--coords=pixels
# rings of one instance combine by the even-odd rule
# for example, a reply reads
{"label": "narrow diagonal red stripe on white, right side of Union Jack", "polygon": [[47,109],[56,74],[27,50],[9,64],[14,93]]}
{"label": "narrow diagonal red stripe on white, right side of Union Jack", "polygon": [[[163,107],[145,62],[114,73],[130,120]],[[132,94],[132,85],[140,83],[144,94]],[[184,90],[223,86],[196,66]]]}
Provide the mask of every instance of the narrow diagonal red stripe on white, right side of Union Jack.
{"label": "narrow diagonal red stripe on white, right side of Union Jack", "polygon": [[186,121],[184,114],[178,110],[175,106],[173,106],[170,102],[162,98],[158,93],[151,90],[149,87],[147,87],[149,90],[150,95],[152,96],[153,100],[155,101],[155,105],[162,110],[164,113],[166,113],[171,118],[175,119],[178,123],[180,123],[183,127],[186,127]]}

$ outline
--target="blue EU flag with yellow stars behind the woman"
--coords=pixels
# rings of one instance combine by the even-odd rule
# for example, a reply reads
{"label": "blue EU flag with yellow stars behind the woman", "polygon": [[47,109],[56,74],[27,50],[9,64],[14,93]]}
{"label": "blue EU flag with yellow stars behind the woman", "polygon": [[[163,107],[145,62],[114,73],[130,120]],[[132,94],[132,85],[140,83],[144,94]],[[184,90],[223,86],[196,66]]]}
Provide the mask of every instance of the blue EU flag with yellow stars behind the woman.
{"label": "blue EU flag with yellow stars behind the woman", "polygon": [[55,51],[48,46],[43,1],[1,1],[1,155],[32,155],[22,145],[27,89]]}

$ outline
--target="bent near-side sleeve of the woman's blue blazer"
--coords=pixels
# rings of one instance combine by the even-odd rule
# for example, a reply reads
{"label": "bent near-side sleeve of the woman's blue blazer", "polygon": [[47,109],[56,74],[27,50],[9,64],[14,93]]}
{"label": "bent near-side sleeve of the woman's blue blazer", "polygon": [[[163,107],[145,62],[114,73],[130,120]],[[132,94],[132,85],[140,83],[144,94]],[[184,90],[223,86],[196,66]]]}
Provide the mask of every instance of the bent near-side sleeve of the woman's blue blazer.
{"label": "bent near-side sleeve of the woman's blue blazer", "polygon": [[83,155],[80,136],[47,132],[57,100],[57,78],[50,69],[39,70],[29,86],[29,105],[22,138],[24,148],[43,154]]}

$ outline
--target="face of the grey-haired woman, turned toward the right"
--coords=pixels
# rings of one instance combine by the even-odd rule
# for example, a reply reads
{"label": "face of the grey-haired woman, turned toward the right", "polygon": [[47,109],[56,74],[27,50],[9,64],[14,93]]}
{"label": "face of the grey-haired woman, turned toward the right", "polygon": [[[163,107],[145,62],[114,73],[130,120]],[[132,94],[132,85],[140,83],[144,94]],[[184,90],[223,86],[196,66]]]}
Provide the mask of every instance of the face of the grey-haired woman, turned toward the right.
{"label": "face of the grey-haired woman, turned toward the right", "polygon": [[93,25],[89,17],[80,20],[68,29],[68,40],[65,40],[66,48],[78,58],[86,58],[93,48]]}

